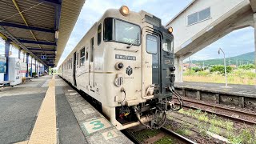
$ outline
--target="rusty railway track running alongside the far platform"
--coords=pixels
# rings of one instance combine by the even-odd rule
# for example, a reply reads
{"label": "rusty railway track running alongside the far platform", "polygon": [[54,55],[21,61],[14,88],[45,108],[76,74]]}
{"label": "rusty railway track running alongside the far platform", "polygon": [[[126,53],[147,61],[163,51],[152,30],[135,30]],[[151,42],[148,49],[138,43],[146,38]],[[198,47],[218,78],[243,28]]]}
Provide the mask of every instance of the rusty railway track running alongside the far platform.
{"label": "rusty railway track running alongside the far platform", "polygon": [[[176,98],[174,98],[176,99]],[[228,118],[234,122],[244,122],[249,125],[256,125],[256,114],[246,111],[234,110],[222,106],[216,106],[208,103],[196,102],[183,98],[184,106],[193,110],[202,110],[203,112],[215,114],[223,118]]]}

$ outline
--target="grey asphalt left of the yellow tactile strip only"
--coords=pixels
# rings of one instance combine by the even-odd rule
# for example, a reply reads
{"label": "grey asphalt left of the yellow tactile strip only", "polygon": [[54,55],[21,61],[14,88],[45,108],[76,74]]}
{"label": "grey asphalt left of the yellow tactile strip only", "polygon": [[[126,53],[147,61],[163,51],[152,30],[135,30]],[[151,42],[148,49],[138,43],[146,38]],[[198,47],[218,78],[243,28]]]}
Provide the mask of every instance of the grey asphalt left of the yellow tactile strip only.
{"label": "grey asphalt left of the yellow tactile strip only", "polygon": [[0,143],[25,141],[30,137],[46,87],[51,77],[0,91]]}

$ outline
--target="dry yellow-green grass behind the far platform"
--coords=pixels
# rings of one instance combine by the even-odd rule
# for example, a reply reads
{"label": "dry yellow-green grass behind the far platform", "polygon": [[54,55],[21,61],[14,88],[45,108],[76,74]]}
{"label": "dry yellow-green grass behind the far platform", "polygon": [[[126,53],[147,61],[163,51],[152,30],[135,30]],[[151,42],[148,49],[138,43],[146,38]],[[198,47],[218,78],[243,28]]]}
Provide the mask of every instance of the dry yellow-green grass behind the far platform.
{"label": "dry yellow-green grass behind the far platform", "polygon": [[[207,71],[194,72],[192,70],[189,74],[187,70],[183,75],[183,80],[188,82],[225,83],[225,77],[222,74],[211,74]],[[227,81],[230,84],[256,85],[256,74],[251,70],[234,70],[227,75]]]}

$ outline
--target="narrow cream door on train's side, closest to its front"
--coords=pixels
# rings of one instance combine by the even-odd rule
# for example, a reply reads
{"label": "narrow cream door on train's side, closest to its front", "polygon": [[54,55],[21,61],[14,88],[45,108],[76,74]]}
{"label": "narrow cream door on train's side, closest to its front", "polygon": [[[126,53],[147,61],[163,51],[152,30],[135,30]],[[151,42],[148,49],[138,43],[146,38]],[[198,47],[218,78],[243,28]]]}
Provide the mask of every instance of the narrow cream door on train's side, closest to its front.
{"label": "narrow cream door on train's side, closest to its front", "polygon": [[94,91],[94,38],[90,39],[90,69],[89,69],[90,90]]}

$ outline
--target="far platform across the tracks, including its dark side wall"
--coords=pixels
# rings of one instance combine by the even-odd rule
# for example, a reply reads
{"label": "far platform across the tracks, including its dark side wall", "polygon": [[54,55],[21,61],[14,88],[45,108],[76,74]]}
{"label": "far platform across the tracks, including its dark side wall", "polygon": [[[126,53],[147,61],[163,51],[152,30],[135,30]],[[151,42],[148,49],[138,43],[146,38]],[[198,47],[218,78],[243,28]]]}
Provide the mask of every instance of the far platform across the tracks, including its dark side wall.
{"label": "far platform across the tracks, including its dark side wall", "polygon": [[231,106],[256,109],[256,86],[207,82],[175,82],[179,94]]}

